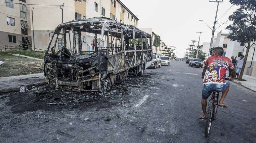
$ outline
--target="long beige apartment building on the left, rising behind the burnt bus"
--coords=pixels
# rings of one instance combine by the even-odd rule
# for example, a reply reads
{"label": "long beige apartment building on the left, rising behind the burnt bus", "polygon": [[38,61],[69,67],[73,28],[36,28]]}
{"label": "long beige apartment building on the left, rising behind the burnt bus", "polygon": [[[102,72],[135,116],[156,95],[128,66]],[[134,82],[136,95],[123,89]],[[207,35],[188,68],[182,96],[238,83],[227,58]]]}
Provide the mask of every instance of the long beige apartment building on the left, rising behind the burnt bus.
{"label": "long beige apartment building on the left, rising behind the burnt bus", "polygon": [[[6,19],[1,21],[3,26],[0,28],[0,45],[26,44],[46,49],[50,33],[62,22],[108,17],[137,27],[139,20],[120,0],[5,0],[5,2],[6,6],[0,9],[1,18]],[[63,39],[61,37],[59,39],[61,43]],[[87,48],[83,51],[94,50],[91,49],[94,42],[94,36],[84,33],[83,44]]]}

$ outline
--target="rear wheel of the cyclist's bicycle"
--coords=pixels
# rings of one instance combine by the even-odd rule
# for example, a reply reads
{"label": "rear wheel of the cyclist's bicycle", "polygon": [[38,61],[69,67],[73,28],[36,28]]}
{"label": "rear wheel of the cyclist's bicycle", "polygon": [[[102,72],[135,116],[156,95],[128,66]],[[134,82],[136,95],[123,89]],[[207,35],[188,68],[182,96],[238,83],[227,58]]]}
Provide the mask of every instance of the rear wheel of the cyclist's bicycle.
{"label": "rear wheel of the cyclist's bicycle", "polygon": [[205,129],[204,129],[205,137],[209,137],[210,129],[212,125],[212,116],[213,116],[213,100],[210,100],[206,110],[206,123],[205,123]]}

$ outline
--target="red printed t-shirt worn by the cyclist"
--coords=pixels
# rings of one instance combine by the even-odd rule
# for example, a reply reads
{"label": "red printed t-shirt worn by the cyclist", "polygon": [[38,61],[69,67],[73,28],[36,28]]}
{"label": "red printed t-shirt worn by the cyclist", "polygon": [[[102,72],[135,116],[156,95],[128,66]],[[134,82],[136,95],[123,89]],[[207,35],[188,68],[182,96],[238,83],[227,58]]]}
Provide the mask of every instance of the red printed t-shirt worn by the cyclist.
{"label": "red printed t-shirt worn by the cyclist", "polygon": [[204,66],[207,66],[203,79],[204,84],[226,84],[226,72],[228,68],[234,68],[231,60],[224,56],[211,56],[205,61]]}

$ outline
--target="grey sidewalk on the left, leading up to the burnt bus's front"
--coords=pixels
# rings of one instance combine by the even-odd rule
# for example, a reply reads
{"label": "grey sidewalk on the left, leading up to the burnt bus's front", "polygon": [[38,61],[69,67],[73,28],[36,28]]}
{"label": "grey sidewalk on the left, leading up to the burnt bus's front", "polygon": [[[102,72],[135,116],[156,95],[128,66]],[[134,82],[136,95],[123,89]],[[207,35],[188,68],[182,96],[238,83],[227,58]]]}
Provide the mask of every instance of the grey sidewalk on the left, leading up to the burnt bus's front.
{"label": "grey sidewalk on the left, leading up to the burnt bus's front", "polygon": [[2,77],[0,78],[0,93],[20,91],[21,85],[38,86],[47,84],[44,73]]}

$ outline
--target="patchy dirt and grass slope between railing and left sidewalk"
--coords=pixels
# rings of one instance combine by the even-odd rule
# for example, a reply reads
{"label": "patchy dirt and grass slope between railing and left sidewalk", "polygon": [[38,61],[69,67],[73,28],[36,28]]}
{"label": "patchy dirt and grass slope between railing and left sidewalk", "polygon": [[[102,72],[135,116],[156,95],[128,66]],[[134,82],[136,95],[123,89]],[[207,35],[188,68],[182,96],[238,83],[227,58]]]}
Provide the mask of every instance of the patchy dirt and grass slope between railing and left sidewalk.
{"label": "patchy dirt and grass slope between railing and left sidewalk", "polygon": [[[5,52],[0,52],[0,61],[4,64],[0,66],[0,77],[27,75],[43,72],[43,61],[27,59],[13,56]],[[40,68],[40,69],[39,69]]]}

